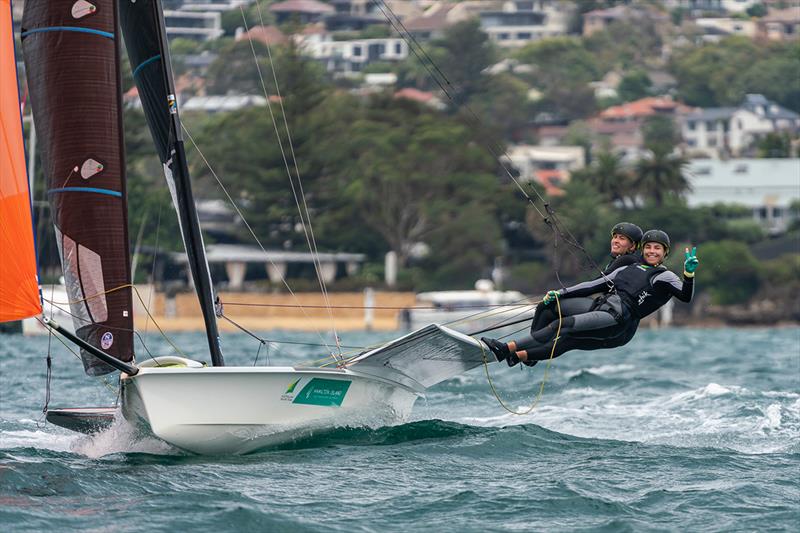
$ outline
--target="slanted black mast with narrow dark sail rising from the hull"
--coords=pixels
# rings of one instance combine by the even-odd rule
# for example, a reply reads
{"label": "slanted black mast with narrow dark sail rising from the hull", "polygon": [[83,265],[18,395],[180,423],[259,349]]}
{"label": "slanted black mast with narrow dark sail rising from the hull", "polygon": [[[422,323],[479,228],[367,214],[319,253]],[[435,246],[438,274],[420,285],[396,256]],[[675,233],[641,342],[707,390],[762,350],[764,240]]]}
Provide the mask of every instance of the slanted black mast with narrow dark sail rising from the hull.
{"label": "slanted black mast with narrow dark sail rising from the hull", "polygon": [[214,288],[186,162],[161,2],[119,0],[118,5],[134,81],[178,213],[189,269],[203,313],[211,362],[214,366],[224,366],[214,308]]}

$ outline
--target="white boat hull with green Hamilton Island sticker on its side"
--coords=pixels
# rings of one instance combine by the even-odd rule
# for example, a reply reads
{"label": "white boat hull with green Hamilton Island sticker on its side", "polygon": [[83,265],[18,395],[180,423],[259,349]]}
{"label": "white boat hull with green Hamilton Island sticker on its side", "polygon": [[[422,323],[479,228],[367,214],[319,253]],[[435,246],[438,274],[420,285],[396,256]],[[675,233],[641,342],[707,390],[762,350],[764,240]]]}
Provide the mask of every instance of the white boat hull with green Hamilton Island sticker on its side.
{"label": "white boat hull with green Hamilton Island sticker on its side", "polygon": [[179,448],[237,454],[334,427],[403,422],[421,392],[351,370],[141,368],[123,376],[122,413]]}

